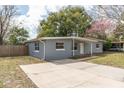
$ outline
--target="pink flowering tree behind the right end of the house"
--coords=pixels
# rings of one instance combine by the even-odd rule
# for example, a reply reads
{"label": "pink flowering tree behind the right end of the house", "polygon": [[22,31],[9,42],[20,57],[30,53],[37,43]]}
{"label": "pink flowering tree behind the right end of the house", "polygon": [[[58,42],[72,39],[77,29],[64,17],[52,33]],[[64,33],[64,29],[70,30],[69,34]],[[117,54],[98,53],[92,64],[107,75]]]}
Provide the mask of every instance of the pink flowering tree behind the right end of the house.
{"label": "pink flowering tree behind the right end of the house", "polygon": [[115,25],[110,20],[94,21],[92,25],[86,30],[87,37],[94,37],[99,39],[106,39],[107,35],[115,29]]}

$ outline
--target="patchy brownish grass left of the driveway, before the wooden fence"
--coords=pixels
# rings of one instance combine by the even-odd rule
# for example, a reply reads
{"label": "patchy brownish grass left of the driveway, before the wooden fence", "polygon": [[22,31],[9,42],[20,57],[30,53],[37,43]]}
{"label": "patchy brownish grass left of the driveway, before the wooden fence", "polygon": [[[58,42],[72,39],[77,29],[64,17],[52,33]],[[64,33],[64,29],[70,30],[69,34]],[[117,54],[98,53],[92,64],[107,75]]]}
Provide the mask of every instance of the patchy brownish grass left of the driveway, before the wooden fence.
{"label": "patchy brownish grass left of the driveway, before the wooden fence", "polygon": [[1,88],[37,87],[19,67],[19,65],[34,63],[41,63],[41,60],[29,56],[0,57],[0,87]]}

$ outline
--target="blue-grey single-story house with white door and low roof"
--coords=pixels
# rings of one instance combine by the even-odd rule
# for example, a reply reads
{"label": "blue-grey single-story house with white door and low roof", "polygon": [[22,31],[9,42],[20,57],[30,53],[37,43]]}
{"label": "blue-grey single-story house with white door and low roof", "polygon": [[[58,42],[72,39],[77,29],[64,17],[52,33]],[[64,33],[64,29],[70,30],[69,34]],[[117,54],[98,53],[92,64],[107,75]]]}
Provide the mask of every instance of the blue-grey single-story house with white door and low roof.
{"label": "blue-grey single-story house with white door and low roof", "polygon": [[45,60],[103,52],[103,40],[82,37],[42,37],[26,44],[30,56]]}

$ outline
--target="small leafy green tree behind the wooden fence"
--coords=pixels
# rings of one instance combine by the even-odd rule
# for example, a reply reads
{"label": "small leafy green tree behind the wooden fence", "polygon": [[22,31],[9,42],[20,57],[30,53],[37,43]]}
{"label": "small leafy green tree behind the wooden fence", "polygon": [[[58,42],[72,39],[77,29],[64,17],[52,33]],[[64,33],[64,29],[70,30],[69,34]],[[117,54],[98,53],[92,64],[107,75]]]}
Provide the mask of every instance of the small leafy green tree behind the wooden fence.
{"label": "small leafy green tree behind the wooden fence", "polygon": [[29,37],[28,31],[23,27],[14,26],[10,30],[8,43],[18,45],[24,43]]}

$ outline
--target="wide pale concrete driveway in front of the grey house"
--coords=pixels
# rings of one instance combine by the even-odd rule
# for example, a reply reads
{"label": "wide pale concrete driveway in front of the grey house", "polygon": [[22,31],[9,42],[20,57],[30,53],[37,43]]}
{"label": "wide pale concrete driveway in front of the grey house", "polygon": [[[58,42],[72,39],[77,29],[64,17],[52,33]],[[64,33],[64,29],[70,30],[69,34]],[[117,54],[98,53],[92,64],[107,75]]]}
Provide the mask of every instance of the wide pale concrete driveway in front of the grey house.
{"label": "wide pale concrete driveway in front of the grey house", "polygon": [[40,88],[124,87],[124,69],[109,66],[58,60],[20,67]]}

